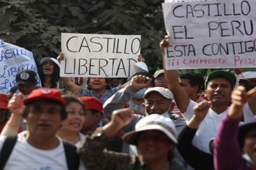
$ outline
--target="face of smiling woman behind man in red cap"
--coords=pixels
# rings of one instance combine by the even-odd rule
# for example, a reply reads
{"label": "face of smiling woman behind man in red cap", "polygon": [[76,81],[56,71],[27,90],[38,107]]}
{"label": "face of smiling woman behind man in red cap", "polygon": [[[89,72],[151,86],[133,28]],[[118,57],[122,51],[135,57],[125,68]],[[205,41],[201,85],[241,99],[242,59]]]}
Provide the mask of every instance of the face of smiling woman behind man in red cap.
{"label": "face of smiling woman behind man in red cap", "polygon": [[61,129],[78,133],[85,122],[85,110],[83,109],[83,105],[71,102],[66,105],[66,112],[68,117],[63,121]]}

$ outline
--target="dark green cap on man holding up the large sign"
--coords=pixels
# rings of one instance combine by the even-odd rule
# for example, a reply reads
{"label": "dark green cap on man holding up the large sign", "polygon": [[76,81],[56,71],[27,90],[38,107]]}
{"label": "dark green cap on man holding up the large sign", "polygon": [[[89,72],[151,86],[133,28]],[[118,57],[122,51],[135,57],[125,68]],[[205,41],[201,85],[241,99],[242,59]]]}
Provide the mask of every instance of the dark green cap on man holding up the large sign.
{"label": "dark green cap on man holding up the large sign", "polygon": [[207,83],[214,78],[217,77],[222,77],[225,79],[228,79],[228,81],[231,82],[232,88],[236,85],[236,76],[235,74],[231,73],[231,72],[227,72],[224,70],[217,70],[214,72],[211,72],[205,79],[205,89],[207,88]]}

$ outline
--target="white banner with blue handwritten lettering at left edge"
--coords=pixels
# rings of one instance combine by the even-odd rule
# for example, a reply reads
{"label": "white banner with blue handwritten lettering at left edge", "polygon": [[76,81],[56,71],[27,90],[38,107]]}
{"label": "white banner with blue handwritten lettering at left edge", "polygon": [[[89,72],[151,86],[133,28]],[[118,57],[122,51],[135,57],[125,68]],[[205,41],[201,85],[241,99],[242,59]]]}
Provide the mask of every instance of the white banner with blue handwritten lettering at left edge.
{"label": "white banner with blue handwritten lettering at left edge", "polygon": [[37,65],[31,51],[8,44],[0,39],[0,93],[16,85],[16,74],[23,69],[34,70],[37,73],[38,85],[41,81],[37,72]]}

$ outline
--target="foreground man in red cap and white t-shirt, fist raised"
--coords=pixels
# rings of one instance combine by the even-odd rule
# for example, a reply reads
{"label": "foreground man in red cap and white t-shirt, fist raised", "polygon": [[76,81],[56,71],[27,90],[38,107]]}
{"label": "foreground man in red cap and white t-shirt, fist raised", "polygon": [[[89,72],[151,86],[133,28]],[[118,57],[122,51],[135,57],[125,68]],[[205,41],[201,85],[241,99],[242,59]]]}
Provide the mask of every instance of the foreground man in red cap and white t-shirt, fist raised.
{"label": "foreground man in red cap and white t-shirt, fist raised", "polygon": [[[36,89],[24,100],[21,94],[13,95],[8,108],[13,115],[23,114],[28,131],[18,134],[4,169],[70,169],[64,147],[66,144],[56,136],[67,116],[65,105],[61,92],[56,89]],[[5,140],[6,136],[0,136],[1,151]],[[73,146],[70,147],[72,149]],[[78,169],[85,169],[79,161]]]}

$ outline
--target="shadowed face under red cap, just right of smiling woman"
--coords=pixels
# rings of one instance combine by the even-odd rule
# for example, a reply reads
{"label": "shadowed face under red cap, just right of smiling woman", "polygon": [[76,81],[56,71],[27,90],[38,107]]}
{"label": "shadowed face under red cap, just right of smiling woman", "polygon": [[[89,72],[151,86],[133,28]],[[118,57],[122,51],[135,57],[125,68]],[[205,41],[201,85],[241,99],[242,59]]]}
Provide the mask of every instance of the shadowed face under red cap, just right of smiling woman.
{"label": "shadowed face under red cap, just right of smiling woman", "polygon": [[85,110],[85,122],[83,124],[83,129],[85,131],[95,131],[100,117],[102,117],[100,112],[93,114],[90,110]]}

